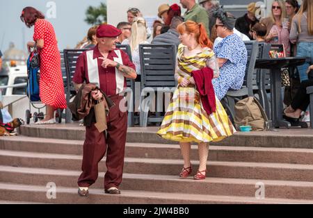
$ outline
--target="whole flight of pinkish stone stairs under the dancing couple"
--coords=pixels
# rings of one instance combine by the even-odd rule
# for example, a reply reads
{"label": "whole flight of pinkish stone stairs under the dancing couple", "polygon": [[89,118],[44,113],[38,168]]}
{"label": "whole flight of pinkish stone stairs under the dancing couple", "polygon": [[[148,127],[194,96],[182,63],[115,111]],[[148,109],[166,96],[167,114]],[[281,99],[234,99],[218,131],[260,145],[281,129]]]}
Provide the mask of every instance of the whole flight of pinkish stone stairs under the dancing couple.
{"label": "whole flight of pinkish stone stairs under the dancing couple", "polygon": [[[179,145],[156,130],[129,128],[122,194],[104,194],[102,160],[84,198],[77,194],[84,128],[22,126],[17,137],[0,137],[0,203],[313,203],[312,130],[236,133],[213,143],[204,181],[178,178]],[[197,169],[196,145],[191,159]],[[56,199],[47,198],[50,182]]]}

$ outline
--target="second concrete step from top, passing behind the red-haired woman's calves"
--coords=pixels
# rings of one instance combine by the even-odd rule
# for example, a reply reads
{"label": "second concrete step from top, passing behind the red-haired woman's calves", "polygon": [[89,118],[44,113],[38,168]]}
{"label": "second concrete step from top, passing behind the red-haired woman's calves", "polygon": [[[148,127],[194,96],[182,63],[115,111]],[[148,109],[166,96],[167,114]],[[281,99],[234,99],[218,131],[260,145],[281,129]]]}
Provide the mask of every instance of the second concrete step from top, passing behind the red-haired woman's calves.
{"label": "second concrete step from top, passing behind the red-haired woman's calves", "polygon": [[[0,137],[0,149],[36,153],[82,155],[82,140],[38,140],[38,137]],[[281,149],[243,146],[210,146],[209,160],[239,162],[282,162],[313,165],[312,149]],[[125,156],[129,158],[182,159],[178,144],[127,142]],[[198,146],[191,146],[191,159],[198,160]]]}

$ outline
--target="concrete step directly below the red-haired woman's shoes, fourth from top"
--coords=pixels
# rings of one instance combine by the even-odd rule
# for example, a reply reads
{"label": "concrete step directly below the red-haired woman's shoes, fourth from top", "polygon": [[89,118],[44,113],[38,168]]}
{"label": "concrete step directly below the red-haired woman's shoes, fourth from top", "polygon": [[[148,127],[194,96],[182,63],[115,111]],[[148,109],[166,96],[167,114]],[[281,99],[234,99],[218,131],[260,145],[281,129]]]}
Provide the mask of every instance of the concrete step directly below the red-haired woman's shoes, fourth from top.
{"label": "concrete step directly below the red-haired woman's shoes, fourth from top", "polygon": [[[0,166],[1,183],[45,186],[47,183],[53,182],[56,187],[77,187],[77,178],[80,174],[80,171],[60,169]],[[102,173],[90,188],[103,189],[103,183],[104,174]],[[301,181],[260,181],[242,178],[207,178],[204,181],[193,181],[192,178],[181,179],[178,176],[170,175],[125,173],[120,188],[121,190],[147,192],[254,197],[257,190],[259,190],[259,185],[264,185],[266,199],[313,200],[313,183]]]}

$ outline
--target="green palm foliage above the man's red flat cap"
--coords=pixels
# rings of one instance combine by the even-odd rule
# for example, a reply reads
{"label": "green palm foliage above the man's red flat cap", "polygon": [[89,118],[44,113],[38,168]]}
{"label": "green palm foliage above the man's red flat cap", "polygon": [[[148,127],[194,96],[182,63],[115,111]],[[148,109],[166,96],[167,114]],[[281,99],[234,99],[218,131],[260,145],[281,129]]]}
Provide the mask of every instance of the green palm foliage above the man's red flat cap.
{"label": "green palm foliage above the man's red flat cap", "polygon": [[100,3],[100,6],[89,6],[86,10],[85,22],[90,25],[99,25],[106,22],[106,4]]}

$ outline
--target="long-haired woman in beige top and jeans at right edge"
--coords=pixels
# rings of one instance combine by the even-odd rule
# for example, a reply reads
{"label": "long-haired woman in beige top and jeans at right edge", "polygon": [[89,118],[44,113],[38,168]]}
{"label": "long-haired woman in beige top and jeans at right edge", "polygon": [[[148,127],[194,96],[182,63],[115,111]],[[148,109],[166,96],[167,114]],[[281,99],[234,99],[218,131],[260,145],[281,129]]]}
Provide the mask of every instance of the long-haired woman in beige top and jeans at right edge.
{"label": "long-haired woman in beige top and jeans at right edge", "polygon": [[298,66],[300,81],[307,80],[307,68],[313,63],[313,1],[304,0],[300,10],[294,16],[291,23],[289,38],[291,42],[297,42],[297,57],[307,57],[304,65]]}

